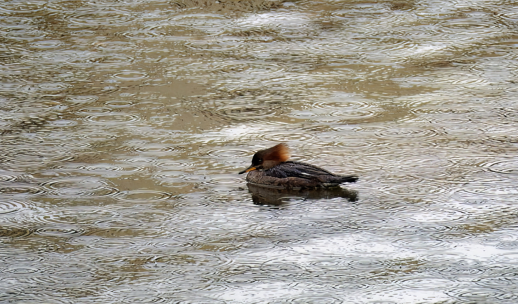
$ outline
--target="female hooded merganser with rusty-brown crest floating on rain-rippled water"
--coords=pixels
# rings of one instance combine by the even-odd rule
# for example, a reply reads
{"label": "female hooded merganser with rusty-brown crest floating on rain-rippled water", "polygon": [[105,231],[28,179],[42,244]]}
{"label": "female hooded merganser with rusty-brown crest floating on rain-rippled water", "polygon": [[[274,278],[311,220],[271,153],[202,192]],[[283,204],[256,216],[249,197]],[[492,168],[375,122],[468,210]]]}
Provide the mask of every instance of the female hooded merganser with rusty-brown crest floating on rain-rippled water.
{"label": "female hooded merganser with rusty-brown crest floating on rain-rippled water", "polygon": [[287,161],[289,153],[286,144],[257,151],[252,157],[252,165],[239,174],[249,172],[249,183],[280,188],[337,187],[358,180],[356,176],[336,175],[309,163]]}

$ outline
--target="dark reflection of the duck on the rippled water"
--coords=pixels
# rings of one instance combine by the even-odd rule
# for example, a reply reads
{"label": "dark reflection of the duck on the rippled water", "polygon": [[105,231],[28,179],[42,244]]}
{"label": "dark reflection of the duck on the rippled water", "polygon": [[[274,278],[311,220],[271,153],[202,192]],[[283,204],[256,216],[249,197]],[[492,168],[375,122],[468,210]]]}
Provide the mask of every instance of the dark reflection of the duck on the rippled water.
{"label": "dark reflection of the duck on the rippled water", "polygon": [[279,208],[282,205],[289,204],[297,198],[305,200],[325,200],[344,198],[351,202],[356,201],[356,191],[343,189],[340,187],[333,188],[316,188],[316,189],[286,189],[286,188],[269,188],[247,184],[248,191],[252,195],[252,201],[256,205],[271,206]]}

